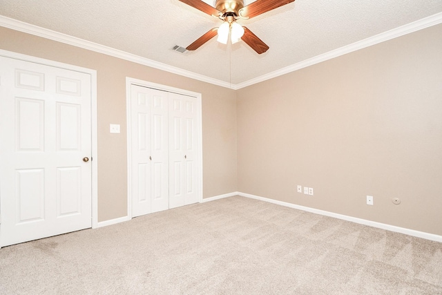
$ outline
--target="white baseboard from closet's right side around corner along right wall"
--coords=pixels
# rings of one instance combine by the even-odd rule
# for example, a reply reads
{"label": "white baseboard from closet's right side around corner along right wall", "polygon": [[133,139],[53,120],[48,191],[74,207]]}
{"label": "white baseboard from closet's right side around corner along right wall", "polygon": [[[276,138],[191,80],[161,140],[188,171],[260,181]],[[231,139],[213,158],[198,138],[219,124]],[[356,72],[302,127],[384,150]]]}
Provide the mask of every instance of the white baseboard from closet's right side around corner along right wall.
{"label": "white baseboard from closet's right side around corner along right wall", "polygon": [[408,236],[415,236],[417,238],[425,238],[426,240],[434,240],[435,242],[442,242],[442,236],[439,236],[436,234],[425,233],[423,231],[416,231],[414,229],[405,229],[404,227],[396,227],[395,225],[387,225],[387,224],[381,223],[381,222],[375,222],[372,220],[366,220],[366,219],[362,219],[362,218],[356,218],[356,217],[347,216],[347,215],[343,215],[343,214],[338,214],[338,213],[333,213],[333,212],[329,212],[329,211],[300,206],[297,204],[291,204],[288,202],[282,202],[282,201],[273,200],[270,198],[264,198],[264,197],[260,197],[260,196],[251,195],[250,193],[241,193],[239,191],[236,191],[233,193],[226,193],[224,195],[215,196],[212,198],[207,198],[207,199],[204,199],[203,201],[209,202],[209,201],[227,198],[227,197],[231,197],[231,196],[242,196],[242,197],[246,197],[246,198],[252,198],[255,200],[270,202],[273,204],[278,204],[281,206],[290,207],[290,208],[298,209],[298,210],[302,210],[302,211],[307,211],[307,212],[311,212],[311,213],[315,213],[315,214],[319,214],[319,215],[323,215],[323,216],[329,216],[329,217],[338,218],[341,220],[355,222],[355,223],[358,223],[361,225],[367,225],[369,227],[376,227],[378,229],[385,229],[387,231],[394,231],[396,233],[406,234]]}

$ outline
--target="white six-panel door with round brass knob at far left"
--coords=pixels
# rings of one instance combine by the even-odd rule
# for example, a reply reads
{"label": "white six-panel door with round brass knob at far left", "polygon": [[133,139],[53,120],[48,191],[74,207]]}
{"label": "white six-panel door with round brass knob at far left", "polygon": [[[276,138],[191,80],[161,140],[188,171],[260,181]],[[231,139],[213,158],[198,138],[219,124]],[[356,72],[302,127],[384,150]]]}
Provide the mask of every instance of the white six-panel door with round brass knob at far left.
{"label": "white six-panel door with round brass knob at far left", "polygon": [[90,75],[0,64],[0,246],[91,227]]}

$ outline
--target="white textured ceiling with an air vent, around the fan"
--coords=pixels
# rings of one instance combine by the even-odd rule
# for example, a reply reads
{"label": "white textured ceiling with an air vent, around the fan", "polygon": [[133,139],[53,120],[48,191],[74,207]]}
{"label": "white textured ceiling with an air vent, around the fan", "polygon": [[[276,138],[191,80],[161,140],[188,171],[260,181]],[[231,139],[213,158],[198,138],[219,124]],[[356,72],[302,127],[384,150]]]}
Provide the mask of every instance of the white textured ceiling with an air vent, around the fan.
{"label": "white textured ceiling with an air vent, around the fan", "polygon": [[[257,0],[260,1],[260,0]],[[214,4],[215,0],[204,0]],[[253,1],[244,1],[246,5]],[[442,12],[442,0],[296,0],[247,26],[270,47],[219,44],[177,53],[220,19],[178,0],[0,0],[0,15],[122,50],[162,64],[241,84],[336,48]]]}

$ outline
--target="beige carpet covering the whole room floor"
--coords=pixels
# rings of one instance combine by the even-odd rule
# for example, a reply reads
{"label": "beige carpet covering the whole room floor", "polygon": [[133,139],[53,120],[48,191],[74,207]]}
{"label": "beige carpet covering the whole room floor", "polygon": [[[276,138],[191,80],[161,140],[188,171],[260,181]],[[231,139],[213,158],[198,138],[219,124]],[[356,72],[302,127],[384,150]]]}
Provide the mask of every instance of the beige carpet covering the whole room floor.
{"label": "beige carpet covering the whole room floor", "polygon": [[0,294],[442,294],[441,248],[232,197],[0,249]]}

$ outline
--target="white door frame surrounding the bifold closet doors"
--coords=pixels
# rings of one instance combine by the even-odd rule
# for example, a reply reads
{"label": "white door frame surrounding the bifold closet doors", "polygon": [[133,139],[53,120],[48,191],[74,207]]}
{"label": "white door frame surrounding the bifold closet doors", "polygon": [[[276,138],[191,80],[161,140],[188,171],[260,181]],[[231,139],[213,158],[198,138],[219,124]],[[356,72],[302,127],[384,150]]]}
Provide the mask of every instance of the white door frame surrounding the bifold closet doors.
{"label": "white door frame surrounding the bifold closet doors", "polygon": [[148,88],[157,89],[160,91],[167,91],[172,93],[178,93],[181,95],[187,95],[196,98],[197,108],[197,147],[198,147],[198,167],[197,167],[197,189],[198,189],[198,202],[202,202],[202,95],[193,91],[186,91],[184,89],[166,86],[162,84],[156,84],[153,82],[147,82],[140,79],[126,77],[126,126],[127,126],[127,216],[128,219],[132,218],[132,155],[131,155],[131,142],[132,142],[132,126],[131,126],[131,84],[138,86],[144,86]]}

